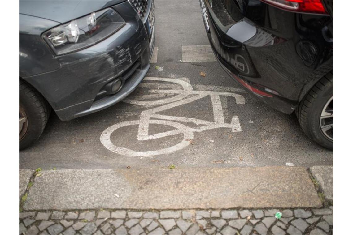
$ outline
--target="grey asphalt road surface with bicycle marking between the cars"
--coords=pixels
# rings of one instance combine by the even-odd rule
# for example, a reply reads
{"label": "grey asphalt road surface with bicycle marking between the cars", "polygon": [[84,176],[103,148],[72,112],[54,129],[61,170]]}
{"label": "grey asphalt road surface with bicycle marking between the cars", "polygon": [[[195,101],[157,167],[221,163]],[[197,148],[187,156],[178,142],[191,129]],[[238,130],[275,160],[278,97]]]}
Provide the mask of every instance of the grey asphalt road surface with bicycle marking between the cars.
{"label": "grey asphalt road surface with bicycle marking between the cars", "polygon": [[20,168],[333,165],[333,151],[310,141],[294,114],[262,104],[222,70],[198,1],[155,7],[156,63],[143,83],[92,115],[62,122],[52,112],[41,138],[20,151]]}

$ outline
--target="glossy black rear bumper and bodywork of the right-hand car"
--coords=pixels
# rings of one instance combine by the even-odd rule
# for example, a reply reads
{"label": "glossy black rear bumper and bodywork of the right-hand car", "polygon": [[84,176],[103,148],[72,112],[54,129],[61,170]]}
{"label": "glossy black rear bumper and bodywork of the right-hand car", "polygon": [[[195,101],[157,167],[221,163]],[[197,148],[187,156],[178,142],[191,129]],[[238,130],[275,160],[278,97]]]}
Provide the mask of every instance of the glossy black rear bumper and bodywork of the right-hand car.
{"label": "glossy black rear bumper and bodywork of the right-hand car", "polygon": [[[236,1],[212,1],[213,6],[201,1],[208,11],[209,42],[221,67],[276,110],[292,113],[306,92],[332,69],[333,43],[323,40],[324,23],[320,25],[331,22],[327,16],[302,17],[260,1],[243,1],[243,12]],[[307,33],[309,27],[312,35]],[[301,57],[305,48],[300,47],[309,38],[317,50],[311,63]]]}

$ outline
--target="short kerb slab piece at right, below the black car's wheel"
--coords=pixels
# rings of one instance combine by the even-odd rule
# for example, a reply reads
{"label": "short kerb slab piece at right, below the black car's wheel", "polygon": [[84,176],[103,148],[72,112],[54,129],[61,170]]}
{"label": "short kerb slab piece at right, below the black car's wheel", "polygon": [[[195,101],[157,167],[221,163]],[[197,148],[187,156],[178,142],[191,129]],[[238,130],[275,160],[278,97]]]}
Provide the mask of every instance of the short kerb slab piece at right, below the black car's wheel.
{"label": "short kerb slab piece at right, below the black car's wheel", "polygon": [[333,200],[333,166],[313,166],[310,172],[319,181],[326,198]]}

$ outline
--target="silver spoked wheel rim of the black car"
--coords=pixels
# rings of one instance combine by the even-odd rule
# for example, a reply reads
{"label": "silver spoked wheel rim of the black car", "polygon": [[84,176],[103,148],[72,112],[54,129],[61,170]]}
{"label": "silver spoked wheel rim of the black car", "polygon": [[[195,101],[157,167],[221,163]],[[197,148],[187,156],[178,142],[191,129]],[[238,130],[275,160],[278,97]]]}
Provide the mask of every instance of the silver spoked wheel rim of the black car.
{"label": "silver spoked wheel rim of the black car", "polygon": [[320,116],[322,133],[333,141],[333,96],[327,101]]}

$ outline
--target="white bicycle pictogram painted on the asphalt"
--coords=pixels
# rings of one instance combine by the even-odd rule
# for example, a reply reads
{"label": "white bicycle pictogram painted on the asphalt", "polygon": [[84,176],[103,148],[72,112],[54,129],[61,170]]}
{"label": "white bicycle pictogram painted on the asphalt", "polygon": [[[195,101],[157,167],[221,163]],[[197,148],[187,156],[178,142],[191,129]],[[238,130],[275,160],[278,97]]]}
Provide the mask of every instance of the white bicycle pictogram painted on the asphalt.
{"label": "white bicycle pictogram painted on the asphalt", "polygon": [[[220,96],[234,97],[237,104],[245,104],[245,99],[242,95],[232,93],[232,92],[195,91],[193,90],[189,82],[186,82],[180,79],[145,78],[144,81],[172,82],[174,84],[180,85],[181,87],[183,87],[183,89],[181,90],[150,89],[149,92],[151,93],[177,94],[174,97],[164,98],[160,100],[143,101],[143,100],[125,99],[124,102],[130,103],[130,104],[145,105],[145,106],[156,106],[156,105],[160,105],[160,106],[152,107],[150,109],[142,111],[140,114],[139,120],[120,122],[104,130],[102,132],[100,140],[103,146],[109,149],[110,151],[113,151],[115,153],[125,155],[125,156],[153,156],[153,155],[160,155],[160,154],[170,154],[187,147],[190,144],[190,141],[193,139],[193,136],[194,136],[193,132],[201,132],[204,130],[211,130],[216,128],[231,128],[233,132],[241,131],[241,126],[239,123],[238,116],[233,116],[231,123],[225,123]],[[185,105],[207,96],[211,98],[211,102],[212,102],[213,116],[214,116],[213,122],[202,120],[202,119],[196,119],[196,118],[157,114],[158,112],[168,110],[180,105]],[[190,127],[180,122],[194,123],[197,125],[197,127],[196,128]],[[161,124],[161,125],[172,126],[175,129],[149,135],[148,130],[149,130],[150,124]],[[163,148],[158,150],[151,150],[151,151],[134,151],[132,149],[118,147],[115,144],[113,144],[110,140],[110,135],[114,131],[117,131],[119,128],[123,126],[129,126],[129,125],[138,125],[138,131],[137,131],[138,141],[154,140],[154,139],[173,136],[177,134],[183,134],[184,136],[183,136],[183,140],[180,143],[175,144],[174,146],[170,146],[168,148]]]}

